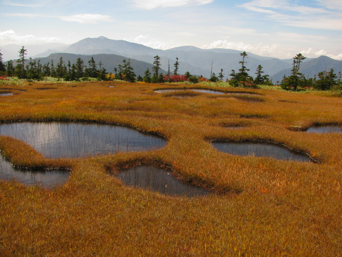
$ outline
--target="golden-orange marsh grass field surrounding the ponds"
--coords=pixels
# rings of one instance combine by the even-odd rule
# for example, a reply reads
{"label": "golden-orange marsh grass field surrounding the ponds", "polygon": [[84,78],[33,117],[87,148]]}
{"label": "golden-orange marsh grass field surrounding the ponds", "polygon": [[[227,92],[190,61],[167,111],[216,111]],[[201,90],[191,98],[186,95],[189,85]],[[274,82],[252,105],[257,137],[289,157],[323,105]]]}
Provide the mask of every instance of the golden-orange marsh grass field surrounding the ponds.
{"label": "golden-orange marsh grass field surrounding the ponds", "polygon": [[[213,89],[256,95],[153,91],[184,86],[191,87],[0,86],[14,93],[0,97],[2,122],[118,123],[168,140],[153,151],[49,160],[0,136],[1,154],[18,167],[72,171],[53,189],[0,180],[0,256],[342,256],[342,134],[297,131],[341,125],[341,97],[241,88]],[[233,156],[216,150],[215,139],[274,141],[321,163]],[[213,193],[170,197],[112,175],[137,164],[168,165],[181,180]]]}

